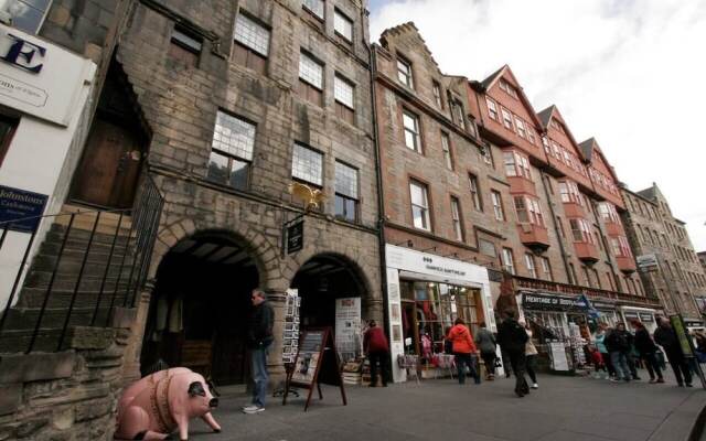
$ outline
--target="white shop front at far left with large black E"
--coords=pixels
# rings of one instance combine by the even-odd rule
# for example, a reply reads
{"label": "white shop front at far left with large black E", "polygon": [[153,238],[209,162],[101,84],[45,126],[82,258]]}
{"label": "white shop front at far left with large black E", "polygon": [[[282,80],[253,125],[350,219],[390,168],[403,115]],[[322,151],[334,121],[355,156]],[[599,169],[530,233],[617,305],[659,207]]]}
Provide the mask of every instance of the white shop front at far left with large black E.
{"label": "white shop front at far left with large black E", "polygon": [[49,227],[35,216],[65,201],[95,76],[89,60],[0,24],[0,222],[29,218],[0,226],[0,310]]}

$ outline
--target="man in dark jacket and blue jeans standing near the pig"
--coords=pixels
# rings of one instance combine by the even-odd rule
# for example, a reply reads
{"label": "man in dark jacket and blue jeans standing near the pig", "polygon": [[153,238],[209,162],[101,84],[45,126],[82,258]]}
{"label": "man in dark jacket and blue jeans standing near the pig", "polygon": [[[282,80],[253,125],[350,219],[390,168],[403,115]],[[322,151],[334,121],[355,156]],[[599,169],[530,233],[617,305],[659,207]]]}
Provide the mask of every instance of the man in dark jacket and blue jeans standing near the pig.
{"label": "man in dark jacket and blue jeans standing near the pig", "polygon": [[272,343],[272,324],[275,311],[267,301],[265,291],[254,289],[252,294],[253,314],[247,330],[247,343],[250,348],[253,365],[253,404],[243,408],[245,413],[257,413],[265,410],[267,396],[267,348]]}

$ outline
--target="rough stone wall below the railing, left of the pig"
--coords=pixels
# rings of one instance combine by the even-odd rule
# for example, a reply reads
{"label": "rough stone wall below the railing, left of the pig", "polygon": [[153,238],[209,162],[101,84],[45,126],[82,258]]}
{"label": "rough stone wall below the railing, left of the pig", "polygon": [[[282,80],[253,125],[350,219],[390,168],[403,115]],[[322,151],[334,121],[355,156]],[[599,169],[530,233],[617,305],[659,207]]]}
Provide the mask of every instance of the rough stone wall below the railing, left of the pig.
{"label": "rough stone wall below the railing, left of the pig", "polygon": [[111,440],[133,310],[71,329],[66,349],[0,358],[0,440]]}

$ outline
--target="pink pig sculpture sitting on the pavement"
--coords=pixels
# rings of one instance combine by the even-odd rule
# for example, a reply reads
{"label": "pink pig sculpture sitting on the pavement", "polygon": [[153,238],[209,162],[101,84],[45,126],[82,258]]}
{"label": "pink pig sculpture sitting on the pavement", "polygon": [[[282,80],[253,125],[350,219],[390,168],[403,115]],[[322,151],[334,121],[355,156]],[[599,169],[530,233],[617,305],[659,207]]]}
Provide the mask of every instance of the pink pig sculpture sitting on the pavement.
{"label": "pink pig sculpture sitting on the pavement", "polygon": [[179,438],[189,439],[189,420],[202,418],[215,432],[221,426],[211,415],[218,406],[205,379],[185,367],[160,370],[126,388],[118,401],[115,439],[169,440],[179,428]]}

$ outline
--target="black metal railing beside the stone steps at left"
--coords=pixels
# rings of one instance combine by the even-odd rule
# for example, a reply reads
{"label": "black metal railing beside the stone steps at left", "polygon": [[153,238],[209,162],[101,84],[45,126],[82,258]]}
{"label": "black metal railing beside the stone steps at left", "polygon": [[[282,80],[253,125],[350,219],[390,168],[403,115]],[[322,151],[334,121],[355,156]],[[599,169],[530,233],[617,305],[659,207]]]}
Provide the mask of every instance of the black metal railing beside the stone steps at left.
{"label": "black metal railing beside the stone steps at left", "polygon": [[[49,243],[50,235],[54,241],[53,247],[47,246],[46,250],[40,247],[34,259],[36,261],[41,255],[45,262],[42,271],[49,272],[49,278],[42,279],[47,280],[45,283],[31,287],[33,295],[41,299],[40,306],[19,303],[22,301],[19,297],[22,292],[20,282],[23,275],[26,278],[31,277],[35,267],[33,262],[30,268],[25,268],[38,228],[30,234],[24,249],[18,251],[22,259],[6,304],[0,305],[4,306],[0,313],[0,351],[38,351],[40,337],[44,338],[42,351],[61,351],[71,326],[109,326],[116,308],[135,308],[148,275],[163,204],[159,189],[148,175],[138,189],[131,208],[86,209],[0,223],[0,250],[6,244],[8,233],[13,230],[13,224],[30,219],[36,220],[39,225],[50,219],[52,226],[45,243]],[[89,277],[86,276],[88,272]],[[63,283],[62,289],[56,289],[58,283]],[[26,279],[24,286],[28,287]],[[99,287],[97,292],[94,287]],[[68,305],[60,302],[61,308],[52,309],[53,324],[47,324],[50,302],[53,294],[57,295],[56,291],[64,291],[64,295],[68,298]],[[82,294],[87,297],[84,303],[94,304],[84,304],[84,314],[76,315],[77,299]],[[18,305],[13,306],[15,298]],[[33,314],[24,314],[20,324],[8,324],[13,313],[21,314],[26,311],[32,311]],[[36,318],[32,319],[33,315]],[[10,334],[13,334],[15,343],[3,345],[3,338],[8,340]]]}

